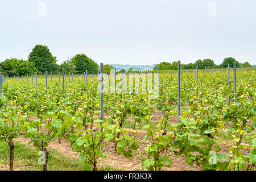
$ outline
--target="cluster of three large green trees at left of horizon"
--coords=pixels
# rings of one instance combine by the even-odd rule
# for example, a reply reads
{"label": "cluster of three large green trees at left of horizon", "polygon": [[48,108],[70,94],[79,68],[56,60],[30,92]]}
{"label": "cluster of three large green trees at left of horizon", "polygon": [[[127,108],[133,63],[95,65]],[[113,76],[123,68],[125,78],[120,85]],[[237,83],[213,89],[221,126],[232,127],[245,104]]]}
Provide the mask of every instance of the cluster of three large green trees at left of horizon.
{"label": "cluster of three large green trees at left of horizon", "polygon": [[46,71],[49,74],[57,74],[62,73],[63,68],[65,68],[65,72],[76,74],[82,74],[86,69],[88,74],[98,73],[99,69],[98,64],[85,54],[77,54],[60,65],[56,62],[56,57],[52,56],[47,46],[36,45],[28,55],[27,60],[11,58],[2,61],[0,72],[4,76],[13,77],[31,75],[35,72],[44,74]]}

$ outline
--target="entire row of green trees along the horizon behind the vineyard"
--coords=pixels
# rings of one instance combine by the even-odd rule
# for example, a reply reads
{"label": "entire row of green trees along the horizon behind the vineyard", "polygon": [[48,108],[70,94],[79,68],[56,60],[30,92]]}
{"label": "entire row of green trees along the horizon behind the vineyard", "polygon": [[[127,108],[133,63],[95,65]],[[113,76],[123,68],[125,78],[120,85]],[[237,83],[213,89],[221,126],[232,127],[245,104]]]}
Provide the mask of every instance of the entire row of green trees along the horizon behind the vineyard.
{"label": "entire row of green trees along the horizon behind the vineyard", "polygon": [[[58,65],[56,57],[52,55],[47,46],[36,45],[30,54],[28,55],[27,60],[23,59],[6,59],[0,63],[0,72],[4,76],[14,77],[22,75],[31,75],[31,73],[37,72],[38,74],[44,74],[46,71],[49,74],[62,73],[63,68],[65,72],[71,72],[75,74],[82,74],[86,70],[88,74],[96,74],[100,69],[99,65],[92,60],[90,57],[85,54],[77,54],[71,59],[64,61],[64,63]],[[236,62],[236,66],[239,67],[251,67],[250,63],[247,61],[245,63],[239,63],[233,57],[227,57],[223,60],[220,65],[214,64],[214,61],[211,59],[197,60],[195,63],[181,64],[181,67],[184,69],[195,69],[198,66],[199,69],[207,68],[226,68],[228,64],[233,68],[233,63]],[[172,63],[162,62],[154,67],[154,70],[157,70],[159,67],[160,70],[168,69],[177,69],[178,62],[174,61]],[[110,69],[114,68],[112,65],[104,64],[104,73],[110,73]],[[119,72],[125,72],[125,70],[120,70]],[[132,68],[129,69],[129,72],[141,72],[133,71]]]}

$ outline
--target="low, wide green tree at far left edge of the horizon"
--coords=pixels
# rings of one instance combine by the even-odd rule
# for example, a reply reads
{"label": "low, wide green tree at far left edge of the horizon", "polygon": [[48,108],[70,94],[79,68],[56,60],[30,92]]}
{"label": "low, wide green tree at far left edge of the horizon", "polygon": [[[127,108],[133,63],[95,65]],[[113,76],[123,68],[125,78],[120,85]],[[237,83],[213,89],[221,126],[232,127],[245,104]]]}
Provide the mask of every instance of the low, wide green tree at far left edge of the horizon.
{"label": "low, wide green tree at far left edge of the horizon", "polygon": [[22,76],[31,75],[31,73],[38,72],[35,68],[35,64],[32,62],[18,60],[15,58],[6,59],[1,63],[3,65],[3,75],[5,76]]}

